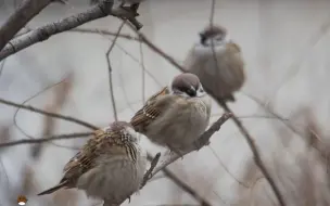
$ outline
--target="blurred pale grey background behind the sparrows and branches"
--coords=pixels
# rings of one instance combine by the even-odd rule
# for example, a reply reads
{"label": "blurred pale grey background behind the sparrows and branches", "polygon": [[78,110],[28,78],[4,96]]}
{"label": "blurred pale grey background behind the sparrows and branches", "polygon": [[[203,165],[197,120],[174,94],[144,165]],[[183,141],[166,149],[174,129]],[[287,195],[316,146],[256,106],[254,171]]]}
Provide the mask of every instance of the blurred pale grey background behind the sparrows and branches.
{"label": "blurred pale grey background behind the sparrows and branches", "polygon": [[[141,33],[182,63],[210,22],[211,4],[211,0],[147,0],[139,9]],[[14,11],[15,1],[0,0],[0,5],[1,25]],[[89,7],[87,0],[53,3],[25,29]],[[288,206],[330,205],[330,1],[217,0],[215,7],[215,24],[227,27],[246,64],[248,80],[229,106],[255,140]],[[79,27],[84,33],[62,33],[9,56],[0,62],[0,96],[107,126],[114,112],[105,53],[114,36],[98,30],[115,33],[119,25],[113,16],[97,20]],[[135,36],[127,26],[122,34]],[[180,73],[137,40],[118,38],[110,60],[116,113],[123,120],[129,120],[145,98]],[[212,120],[221,114],[214,103]],[[0,105],[0,142],[81,131],[86,128]],[[16,205],[20,194],[34,206],[101,205],[76,190],[36,196],[58,183],[63,166],[85,141],[0,149],[0,205]],[[142,144],[153,154],[164,152],[145,139]],[[230,120],[208,146],[168,168],[214,206],[278,205],[245,139]],[[200,203],[161,172],[124,205]]]}

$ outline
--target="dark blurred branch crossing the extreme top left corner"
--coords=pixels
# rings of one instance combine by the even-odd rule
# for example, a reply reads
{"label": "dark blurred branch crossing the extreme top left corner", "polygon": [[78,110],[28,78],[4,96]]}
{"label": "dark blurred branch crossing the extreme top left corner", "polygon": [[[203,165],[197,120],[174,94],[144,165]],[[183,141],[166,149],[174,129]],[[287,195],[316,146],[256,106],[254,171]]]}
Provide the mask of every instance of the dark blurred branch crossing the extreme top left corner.
{"label": "dark blurred branch crossing the extreme top left corner", "polygon": [[24,0],[0,28],[0,51],[33,17],[52,0]]}

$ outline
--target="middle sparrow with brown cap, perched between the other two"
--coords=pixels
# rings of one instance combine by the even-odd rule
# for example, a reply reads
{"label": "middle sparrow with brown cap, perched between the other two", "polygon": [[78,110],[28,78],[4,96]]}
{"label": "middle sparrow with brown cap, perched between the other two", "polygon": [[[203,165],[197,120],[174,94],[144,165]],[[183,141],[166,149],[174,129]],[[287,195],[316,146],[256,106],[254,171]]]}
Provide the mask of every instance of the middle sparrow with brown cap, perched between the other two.
{"label": "middle sparrow with brown cap, perched between the other two", "polygon": [[211,98],[198,76],[185,73],[152,95],[130,119],[137,132],[182,156],[205,131]]}

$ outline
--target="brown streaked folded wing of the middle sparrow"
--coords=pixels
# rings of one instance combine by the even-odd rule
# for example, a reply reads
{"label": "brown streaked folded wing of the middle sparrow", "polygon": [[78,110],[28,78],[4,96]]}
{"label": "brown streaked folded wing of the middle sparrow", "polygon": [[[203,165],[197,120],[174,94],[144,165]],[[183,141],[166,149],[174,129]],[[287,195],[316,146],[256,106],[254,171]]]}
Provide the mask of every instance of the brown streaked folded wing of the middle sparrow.
{"label": "brown streaked folded wing of the middle sparrow", "polygon": [[143,107],[135,114],[130,119],[130,124],[136,131],[143,133],[145,131],[145,127],[162,114],[164,104],[160,103],[157,100],[168,94],[168,88],[163,88],[160,92],[152,95]]}

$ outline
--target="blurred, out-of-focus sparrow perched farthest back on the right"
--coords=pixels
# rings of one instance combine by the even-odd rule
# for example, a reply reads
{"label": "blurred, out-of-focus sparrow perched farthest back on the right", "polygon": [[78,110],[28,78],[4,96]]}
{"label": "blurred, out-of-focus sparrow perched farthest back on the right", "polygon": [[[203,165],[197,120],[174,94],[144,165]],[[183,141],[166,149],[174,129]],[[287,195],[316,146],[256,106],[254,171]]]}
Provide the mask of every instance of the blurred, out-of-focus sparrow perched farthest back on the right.
{"label": "blurred, out-of-focus sparrow perched farthest back on the right", "polygon": [[199,42],[190,49],[183,65],[201,79],[206,92],[225,102],[234,102],[233,92],[245,81],[241,49],[219,25],[207,26],[200,33]]}

